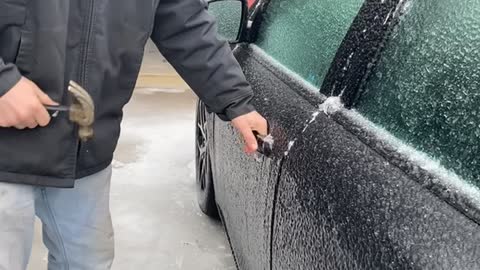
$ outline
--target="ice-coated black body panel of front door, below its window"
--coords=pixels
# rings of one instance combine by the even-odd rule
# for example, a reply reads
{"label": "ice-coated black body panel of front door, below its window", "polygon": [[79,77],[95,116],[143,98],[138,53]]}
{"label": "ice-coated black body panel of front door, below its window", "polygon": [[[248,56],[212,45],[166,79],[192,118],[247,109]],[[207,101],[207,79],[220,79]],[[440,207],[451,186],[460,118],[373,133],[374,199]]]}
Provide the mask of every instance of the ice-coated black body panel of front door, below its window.
{"label": "ice-coated black body panel of front door, below its window", "polygon": [[261,57],[251,57],[250,48],[239,47],[235,53],[255,91],[254,105],[269,120],[275,147],[268,157],[247,156],[242,152],[239,134],[216,119],[216,199],[240,269],[269,269],[271,215],[279,168],[289,138],[301,133],[312,106],[291,91],[291,80],[277,77],[279,73]]}

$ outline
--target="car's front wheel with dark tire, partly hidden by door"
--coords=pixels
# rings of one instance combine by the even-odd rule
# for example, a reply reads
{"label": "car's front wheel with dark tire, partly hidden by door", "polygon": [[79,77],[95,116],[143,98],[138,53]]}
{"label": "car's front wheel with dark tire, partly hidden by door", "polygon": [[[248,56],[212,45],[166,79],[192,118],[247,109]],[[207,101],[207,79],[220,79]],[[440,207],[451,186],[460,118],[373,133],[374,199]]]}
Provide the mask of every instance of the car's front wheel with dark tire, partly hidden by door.
{"label": "car's front wheel with dark tire, partly hidden by door", "polygon": [[218,218],[213,188],[212,160],[210,155],[210,139],[207,126],[207,110],[202,102],[197,105],[197,125],[195,139],[196,185],[198,205],[207,216]]}

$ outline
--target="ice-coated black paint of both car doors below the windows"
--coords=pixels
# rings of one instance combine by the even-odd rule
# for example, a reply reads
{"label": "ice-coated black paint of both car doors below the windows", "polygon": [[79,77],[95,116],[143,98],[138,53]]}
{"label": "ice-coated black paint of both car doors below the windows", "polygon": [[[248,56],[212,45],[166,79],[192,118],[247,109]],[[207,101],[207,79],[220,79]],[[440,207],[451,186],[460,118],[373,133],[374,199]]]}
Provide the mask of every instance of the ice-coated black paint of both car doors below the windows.
{"label": "ice-coated black paint of both car doors below the windows", "polygon": [[271,156],[246,156],[210,116],[216,200],[240,269],[480,269],[478,220],[415,164],[382,151],[346,110],[305,129],[326,97],[248,45],[235,55],[275,138]]}

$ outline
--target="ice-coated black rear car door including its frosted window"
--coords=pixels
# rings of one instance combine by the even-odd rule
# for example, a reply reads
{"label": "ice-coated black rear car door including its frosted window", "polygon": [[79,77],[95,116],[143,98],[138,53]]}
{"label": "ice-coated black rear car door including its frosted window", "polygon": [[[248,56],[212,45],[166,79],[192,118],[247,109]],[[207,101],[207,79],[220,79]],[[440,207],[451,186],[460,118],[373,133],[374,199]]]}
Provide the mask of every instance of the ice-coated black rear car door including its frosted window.
{"label": "ice-coated black rear car door including its frosted window", "polygon": [[480,267],[479,10],[365,1],[283,162],[273,269]]}

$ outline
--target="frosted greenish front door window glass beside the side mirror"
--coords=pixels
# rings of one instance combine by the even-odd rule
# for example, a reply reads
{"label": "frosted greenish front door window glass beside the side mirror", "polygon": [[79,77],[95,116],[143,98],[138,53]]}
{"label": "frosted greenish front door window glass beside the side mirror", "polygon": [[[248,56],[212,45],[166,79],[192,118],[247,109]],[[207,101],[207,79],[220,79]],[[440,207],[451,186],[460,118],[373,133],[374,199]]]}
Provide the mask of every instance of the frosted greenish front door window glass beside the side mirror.
{"label": "frosted greenish front door window glass beside the side mirror", "polygon": [[315,86],[320,86],[363,0],[275,0],[258,45]]}

